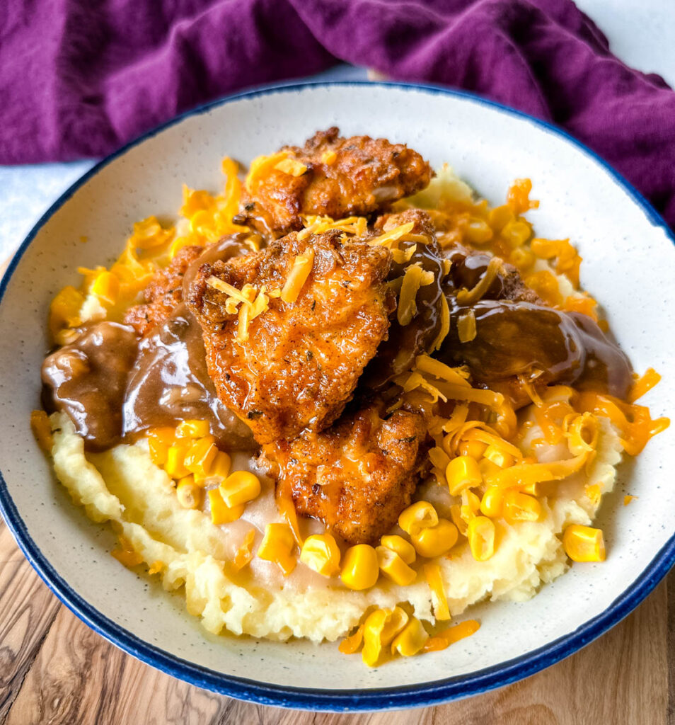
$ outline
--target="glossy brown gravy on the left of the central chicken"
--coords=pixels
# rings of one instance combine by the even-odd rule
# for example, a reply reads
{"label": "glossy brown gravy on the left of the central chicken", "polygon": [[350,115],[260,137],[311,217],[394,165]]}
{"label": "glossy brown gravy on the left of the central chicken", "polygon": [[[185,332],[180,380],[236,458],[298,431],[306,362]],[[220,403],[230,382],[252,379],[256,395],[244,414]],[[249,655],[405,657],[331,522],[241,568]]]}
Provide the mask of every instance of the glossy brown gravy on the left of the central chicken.
{"label": "glossy brown gravy on the left of the central chicken", "polygon": [[[184,285],[204,262],[246,254],[245,236],[227,236],[205,249],[186,270]],[[257,447],[246,423],[218,399],[201,328],[183,304],[142,339],[118,323],[85,328],[46,358],[42,379],[47,409],[70,415],[87,450],[105,450],[147,428],[175,426],[186,418],[209,421],[226,450]]]}

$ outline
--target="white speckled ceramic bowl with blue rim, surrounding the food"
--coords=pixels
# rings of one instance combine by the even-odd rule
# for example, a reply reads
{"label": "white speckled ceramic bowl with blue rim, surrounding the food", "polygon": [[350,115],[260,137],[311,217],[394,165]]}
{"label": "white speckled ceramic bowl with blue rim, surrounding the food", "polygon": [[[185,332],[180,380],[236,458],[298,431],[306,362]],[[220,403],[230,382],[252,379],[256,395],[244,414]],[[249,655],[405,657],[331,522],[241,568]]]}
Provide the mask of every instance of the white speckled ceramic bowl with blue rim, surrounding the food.
{"label": "white speckled ceramic bowl with blue rim, surrounding the food", "polygon": [[[498,203],[514,178],[534,181],[537,233],[569,236],[582,281],[603,303],[634,368],[663,382],[645,398],[675,412],[675,248],[663,221],[603,162],[558,130],[464,94],[387,84],[259,91],[213,104],[150,133],[72,186],[30,233],[0,287],[0,505],[54,593],[103,637],[141,660],[217,692],[317,710],[429,705],[498,687],[573,653],[626,616],[675,560],[675,428],[622,466],[603,502],[608,558],[574,566],[524,604],[477,608],[479,632],[443,653],[379,669],[337,645],[209,637],[167,595],[109,555],[112,534],[56,484],[30,434],[39,405],[46,311],[77,265],[111,261],[130,225],[172,215],[181,184],[219,188],[220,159],[246,162],[337,124],[346,135],[403,141],[448,161]],[[81,244],[81,236],[88,244]],[[639,496],[621,505],[624,492]]]}

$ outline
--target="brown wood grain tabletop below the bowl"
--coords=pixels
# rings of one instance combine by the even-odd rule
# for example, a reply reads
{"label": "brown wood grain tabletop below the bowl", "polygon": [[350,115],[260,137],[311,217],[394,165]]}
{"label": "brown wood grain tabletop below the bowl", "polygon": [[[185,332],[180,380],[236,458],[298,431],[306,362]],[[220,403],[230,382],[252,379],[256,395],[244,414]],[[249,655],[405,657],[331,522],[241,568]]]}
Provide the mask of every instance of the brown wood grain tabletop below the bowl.
{"label": "brown wood grain tabletop below the bowl", "polygon": [[300,713],[214,695],[109,645],[59,604],[0,524],[0,723],[671,725],[674,597],[672,572],[597,642],[487,695],[414,711]]}

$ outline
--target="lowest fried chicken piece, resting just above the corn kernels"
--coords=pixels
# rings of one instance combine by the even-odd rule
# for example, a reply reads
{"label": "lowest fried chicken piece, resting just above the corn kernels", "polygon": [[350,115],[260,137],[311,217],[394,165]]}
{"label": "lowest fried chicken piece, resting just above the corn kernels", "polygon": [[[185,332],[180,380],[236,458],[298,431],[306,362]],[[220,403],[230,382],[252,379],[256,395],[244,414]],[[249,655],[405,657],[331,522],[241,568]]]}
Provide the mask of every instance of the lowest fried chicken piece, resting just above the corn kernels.
{"label": "lowest fried chicken piece, resting just above the corn kernels", "polygon": [[370,405],[319,434],[264,447],[277,495],[321,519],[348,544],[377,541],[411,502],[427,446],[424,416],[397,410],[382,420]]}

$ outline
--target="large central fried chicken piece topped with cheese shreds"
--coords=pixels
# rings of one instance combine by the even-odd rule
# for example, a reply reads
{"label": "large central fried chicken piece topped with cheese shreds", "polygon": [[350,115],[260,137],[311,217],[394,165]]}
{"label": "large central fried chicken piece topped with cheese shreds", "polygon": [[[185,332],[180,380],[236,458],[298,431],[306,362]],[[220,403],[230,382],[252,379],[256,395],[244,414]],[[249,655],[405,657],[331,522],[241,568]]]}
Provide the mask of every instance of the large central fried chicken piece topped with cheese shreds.
{"label": "large central fried chicken piece topped with cheese shreds", "polygon": [[[284,289],[299,254],[313,262],[297,299],[269,297],[244,335],[228,294],[209,279],[238,290]],[[202,326],[209,375],[259,443],[294,438],[305,427],[320,431],[342,413],[387,336],[389,266],[387,249],[343,244],[339,231],[292,233],[261,252],[201,266],[188,307]]]}

